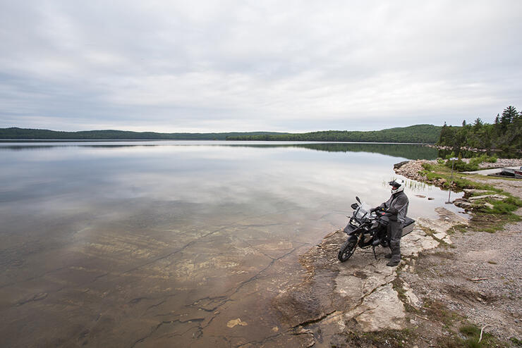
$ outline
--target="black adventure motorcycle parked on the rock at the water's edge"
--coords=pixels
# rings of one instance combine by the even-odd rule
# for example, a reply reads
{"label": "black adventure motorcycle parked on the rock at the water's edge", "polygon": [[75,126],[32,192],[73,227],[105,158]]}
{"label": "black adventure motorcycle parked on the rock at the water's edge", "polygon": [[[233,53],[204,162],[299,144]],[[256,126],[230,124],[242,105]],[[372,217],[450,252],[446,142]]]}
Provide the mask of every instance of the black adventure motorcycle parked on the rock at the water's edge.
{"label": "black adventure motorcycle parked on the rock at the water's edge", "polygon": [[[372,247],[373,255],[375,254],[375,247],[381,245],[382,247],[389,246],[389,237],[387,236],[387,225],[389,223],[389,213],[385,211],[371,211],[370,205],[362,203],[359,197],[356,197],[357,203],[353,203],[352,216],[348,220],[348,225],[344,228],[344,232],[348,235],[348,240],[344,242],[339,249],[337,258],[344,262],[353,255],[356,247],[367,249]],[[413,230],[415,220],[406,216],[403,223],[402,235],[405,236]]]}

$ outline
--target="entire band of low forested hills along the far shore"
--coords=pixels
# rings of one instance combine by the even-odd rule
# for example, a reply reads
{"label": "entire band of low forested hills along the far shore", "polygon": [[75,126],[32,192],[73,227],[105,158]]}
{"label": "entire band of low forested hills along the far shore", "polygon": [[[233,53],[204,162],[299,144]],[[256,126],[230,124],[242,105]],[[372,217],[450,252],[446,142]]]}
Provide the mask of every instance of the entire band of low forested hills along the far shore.
{"label": "entire band of low forested hills along the far shore", "polygon": [[442,127],[411,125],[387,130],[326,130],[308,133],[226,132],[226,133],[157,133],[126,130],[85,130],[61,132],[30,128],[0,128],[0,139],[56,140],[268,140],[305,142],[415,142],[435,144]]}

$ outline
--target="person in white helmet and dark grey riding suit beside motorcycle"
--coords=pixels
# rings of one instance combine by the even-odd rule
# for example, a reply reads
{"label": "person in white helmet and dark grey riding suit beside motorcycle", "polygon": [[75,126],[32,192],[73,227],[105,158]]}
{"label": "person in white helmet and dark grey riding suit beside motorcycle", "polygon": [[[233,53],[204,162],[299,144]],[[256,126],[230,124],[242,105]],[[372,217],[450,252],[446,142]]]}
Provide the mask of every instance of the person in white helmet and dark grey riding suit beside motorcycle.
{"label": "person in white helmet and dark grey riding suit beside motorcycle", "polygon": [[[397,266],[401,262],[402,225],[408,213],[408,197],[404,193],[404,180],[397,179],[388,182],[391,186],[391,197],[372,211],[382,210],[389,216],[388,237],[391,254],[384,257],[391,259],[386,266]],[[377,241],[378,243],[379,241]]]}

